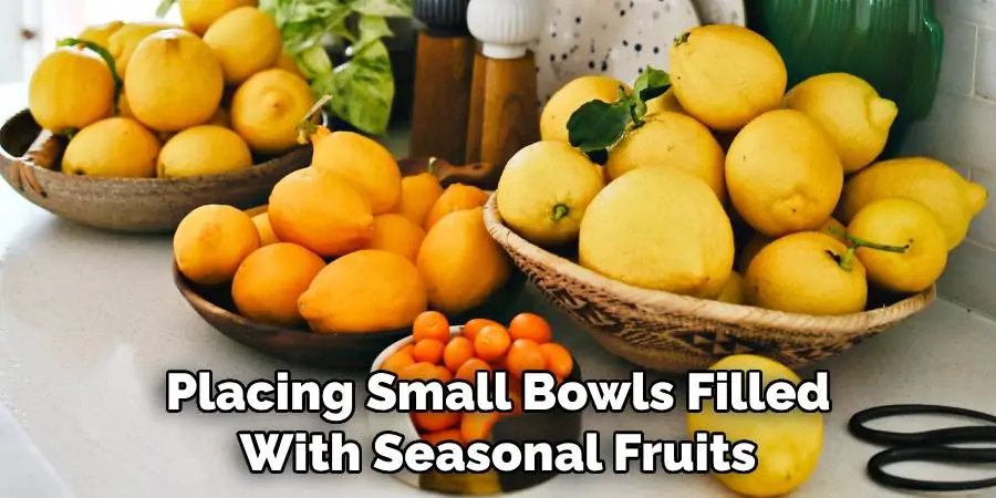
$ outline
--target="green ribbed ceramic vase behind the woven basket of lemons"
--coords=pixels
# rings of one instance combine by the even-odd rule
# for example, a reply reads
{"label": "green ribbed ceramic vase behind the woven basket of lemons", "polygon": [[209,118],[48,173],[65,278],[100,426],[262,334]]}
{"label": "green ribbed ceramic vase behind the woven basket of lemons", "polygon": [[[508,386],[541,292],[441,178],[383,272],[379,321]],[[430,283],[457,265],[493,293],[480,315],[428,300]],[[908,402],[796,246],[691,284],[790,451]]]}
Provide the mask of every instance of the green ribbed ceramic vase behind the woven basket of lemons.
{"label": "green ribbed ceramic vase behind the woven basket of lemons", "polygon": [[[963,1],[963,0],[943,0]],[[934,0],[746,0],[747,22],[778,48],[789,87],[847,72],[896,103],[886,154],[933,106],[944,32]]]}

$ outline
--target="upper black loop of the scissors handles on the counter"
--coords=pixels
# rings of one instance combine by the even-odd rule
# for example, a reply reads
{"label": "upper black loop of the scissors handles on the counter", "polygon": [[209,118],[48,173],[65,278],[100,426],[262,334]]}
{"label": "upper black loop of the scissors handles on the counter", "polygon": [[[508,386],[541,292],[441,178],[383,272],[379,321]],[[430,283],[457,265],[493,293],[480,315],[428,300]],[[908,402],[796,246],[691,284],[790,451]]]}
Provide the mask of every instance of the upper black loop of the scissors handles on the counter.
{"label": "upper black loop of the scissors handles on the counter", "polygon": [[996,416],[973,409],[942,405],[884,405],[855,413],[848,421],[848,432],[861,440],[891,446],[996,442],[989,439],[993,437],[990,434],[996,433],[996,427],[992,426],[953,427],[914,433],[879,430],[868,426],[871,421],[898,415],[953,415],[996,424]]}

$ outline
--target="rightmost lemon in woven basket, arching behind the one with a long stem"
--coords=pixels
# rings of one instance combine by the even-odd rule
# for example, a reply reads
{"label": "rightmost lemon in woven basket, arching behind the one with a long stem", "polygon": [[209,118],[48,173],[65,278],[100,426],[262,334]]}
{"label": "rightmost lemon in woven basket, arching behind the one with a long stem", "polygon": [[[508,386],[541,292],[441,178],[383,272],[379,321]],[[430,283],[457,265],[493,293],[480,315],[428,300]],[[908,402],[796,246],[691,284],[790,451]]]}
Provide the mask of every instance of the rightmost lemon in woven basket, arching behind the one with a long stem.
{"label": "rightmost lemon in woven basket, arching behind the one with a long stem", "polygon": [[985,187],[966,180],[940,160],[906,157],[875,163],[844,184],[837,217],[850,224],[864,206],[886,197],[904,197],[928,207],[954,249],[968,234],[972,219],[986,207]]}

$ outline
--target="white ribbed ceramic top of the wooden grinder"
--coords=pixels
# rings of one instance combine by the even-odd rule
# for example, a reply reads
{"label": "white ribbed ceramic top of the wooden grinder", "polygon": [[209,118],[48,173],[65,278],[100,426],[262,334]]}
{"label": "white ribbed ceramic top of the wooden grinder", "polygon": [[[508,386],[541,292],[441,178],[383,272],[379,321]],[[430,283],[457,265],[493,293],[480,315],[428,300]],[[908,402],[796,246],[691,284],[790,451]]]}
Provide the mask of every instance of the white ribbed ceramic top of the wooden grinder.
{"label": "white ribbed ceramic top of the wooden grinder", "polygon": [[467,28],[485,56],[518,59],[542,33],[549,6],[548,0],[470,0]]}

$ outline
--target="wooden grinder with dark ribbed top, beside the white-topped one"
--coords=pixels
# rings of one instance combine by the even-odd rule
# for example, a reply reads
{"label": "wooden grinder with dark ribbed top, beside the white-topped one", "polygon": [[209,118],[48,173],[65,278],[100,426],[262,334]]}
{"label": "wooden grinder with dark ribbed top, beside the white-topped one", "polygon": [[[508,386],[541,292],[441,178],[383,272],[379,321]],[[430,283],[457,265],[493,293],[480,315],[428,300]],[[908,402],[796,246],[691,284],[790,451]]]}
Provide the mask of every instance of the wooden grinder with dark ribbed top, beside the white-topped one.
{"label": "wooden grinder with dark ribbed top, beside the white-topped one", "polygon": [[412,157],[438,157],[463,164],[467,155],[467,115],[476,41],[467,30],[469,0],[415,0],[418,33],[415,101],[412,104]]}

